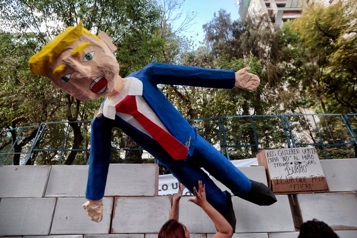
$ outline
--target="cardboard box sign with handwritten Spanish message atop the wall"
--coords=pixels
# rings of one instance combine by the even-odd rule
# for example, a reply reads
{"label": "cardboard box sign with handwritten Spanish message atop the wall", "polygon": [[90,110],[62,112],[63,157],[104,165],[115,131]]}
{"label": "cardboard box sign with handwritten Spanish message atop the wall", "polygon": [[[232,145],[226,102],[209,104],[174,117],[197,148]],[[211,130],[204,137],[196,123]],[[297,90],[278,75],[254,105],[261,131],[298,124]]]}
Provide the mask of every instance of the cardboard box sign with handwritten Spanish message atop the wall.
{"label": "cardboard box sign with handwritten Spanish message atop the wall", "polygon": [[328,186],[314,147],[262,150],[258,164],[275,193],[326,192]]}

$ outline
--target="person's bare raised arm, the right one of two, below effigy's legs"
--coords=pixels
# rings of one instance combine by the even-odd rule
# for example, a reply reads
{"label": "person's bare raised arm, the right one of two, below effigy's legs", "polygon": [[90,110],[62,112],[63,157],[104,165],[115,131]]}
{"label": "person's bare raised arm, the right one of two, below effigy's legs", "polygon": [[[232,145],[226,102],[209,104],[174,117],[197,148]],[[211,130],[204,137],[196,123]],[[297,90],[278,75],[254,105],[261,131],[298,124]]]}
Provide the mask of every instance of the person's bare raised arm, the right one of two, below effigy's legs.
{"label": "person's bare raised arm, the right one of two, below effigy's legs", "polygon": [[202,184],[201,180],[198,181],[198,191],[196,187],[193,187],[193,191],[196,197],[194,199],[189,199],[188,201],[200,206],[202,210],[211,218],[218,231],[213,238],[231,238],[233,235],[231,225],[211,204],[207,202],[205,185]]}

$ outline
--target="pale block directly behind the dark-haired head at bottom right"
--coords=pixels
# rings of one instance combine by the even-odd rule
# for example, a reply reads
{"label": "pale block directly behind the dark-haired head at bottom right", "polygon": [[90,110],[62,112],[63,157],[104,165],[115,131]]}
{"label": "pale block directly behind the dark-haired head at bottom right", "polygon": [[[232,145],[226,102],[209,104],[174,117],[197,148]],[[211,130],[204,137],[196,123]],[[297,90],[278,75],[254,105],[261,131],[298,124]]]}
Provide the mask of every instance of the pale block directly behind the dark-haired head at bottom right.
{"label": "pale block directly behind the dark-haired head at bottom right", "polygon": [[316,218],[334,230],[357,230],[356,192],[306,193],[296,198],[301,222]]}

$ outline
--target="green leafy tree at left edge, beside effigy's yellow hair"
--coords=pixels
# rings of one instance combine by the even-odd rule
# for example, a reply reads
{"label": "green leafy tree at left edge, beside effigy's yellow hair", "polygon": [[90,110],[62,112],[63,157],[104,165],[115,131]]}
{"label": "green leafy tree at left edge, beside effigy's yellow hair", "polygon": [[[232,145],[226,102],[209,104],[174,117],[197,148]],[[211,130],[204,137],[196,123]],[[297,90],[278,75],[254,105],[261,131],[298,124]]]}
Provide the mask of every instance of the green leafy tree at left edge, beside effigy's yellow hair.
{"label": "green leafy tree at left edge, beside effigy's yellow hair", "polygon": [[[28,57],[37,44],[31,33],[0,33],[0,128],[11,133],[14,165],[19,165],[21,149],[37,132],[34,127],[19,135],[15,128],[47,121],[64,105],[61,95],[48,87],[46,79],[34,77],[28,70]],[[6,140],[0,148],[7,143]]]}

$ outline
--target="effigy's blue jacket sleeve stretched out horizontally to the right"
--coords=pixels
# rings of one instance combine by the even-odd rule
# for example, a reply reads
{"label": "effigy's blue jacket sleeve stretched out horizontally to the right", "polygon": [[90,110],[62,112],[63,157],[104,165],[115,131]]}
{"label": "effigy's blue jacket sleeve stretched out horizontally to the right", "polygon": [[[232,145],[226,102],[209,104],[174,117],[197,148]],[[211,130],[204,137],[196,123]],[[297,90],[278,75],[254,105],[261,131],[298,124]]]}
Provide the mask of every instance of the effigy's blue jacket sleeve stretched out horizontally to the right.
{"label": "effigy's blue jacket sleeve stretched out horizontally to the right", "polygon": [[[141,75],[139,75],[141,74]],[[200,68],[185,65],[151,63],[129,76],[147,77],[154,84],[186,85],[207,88],[228,88],[235,86],[233,70]]]}

